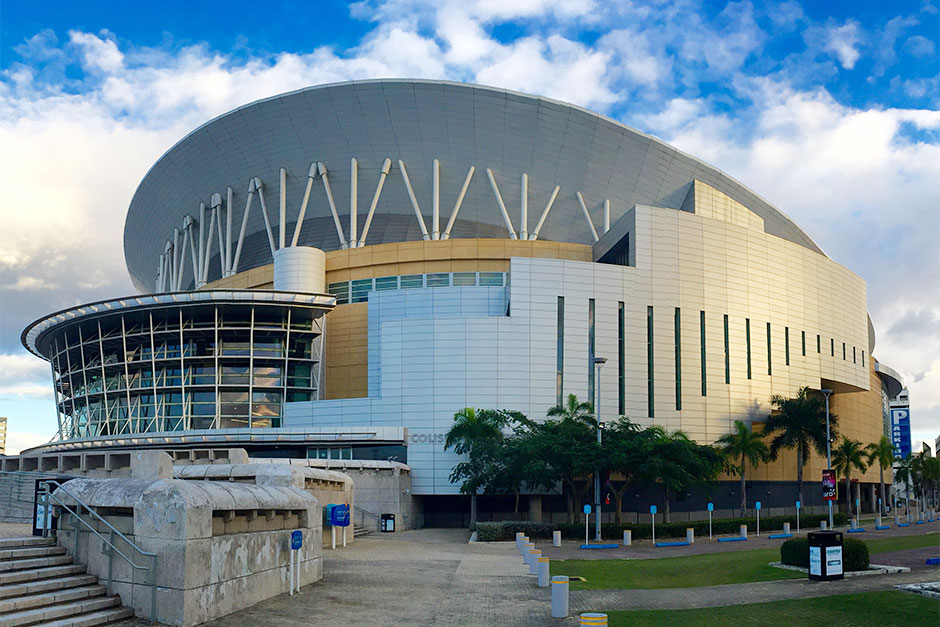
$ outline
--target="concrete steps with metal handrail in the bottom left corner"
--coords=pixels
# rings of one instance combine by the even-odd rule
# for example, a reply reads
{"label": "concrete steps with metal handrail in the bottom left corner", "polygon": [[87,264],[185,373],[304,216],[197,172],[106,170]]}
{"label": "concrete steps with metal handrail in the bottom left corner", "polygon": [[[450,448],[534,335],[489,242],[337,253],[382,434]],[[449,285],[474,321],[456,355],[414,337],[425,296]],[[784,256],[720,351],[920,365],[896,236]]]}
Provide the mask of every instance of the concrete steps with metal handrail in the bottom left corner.
{"label": "concrete steps with metal handrail in the bottom left corner", "polygon": [[133,615],[54,539],[0,539],[0,627],[91,627]]}

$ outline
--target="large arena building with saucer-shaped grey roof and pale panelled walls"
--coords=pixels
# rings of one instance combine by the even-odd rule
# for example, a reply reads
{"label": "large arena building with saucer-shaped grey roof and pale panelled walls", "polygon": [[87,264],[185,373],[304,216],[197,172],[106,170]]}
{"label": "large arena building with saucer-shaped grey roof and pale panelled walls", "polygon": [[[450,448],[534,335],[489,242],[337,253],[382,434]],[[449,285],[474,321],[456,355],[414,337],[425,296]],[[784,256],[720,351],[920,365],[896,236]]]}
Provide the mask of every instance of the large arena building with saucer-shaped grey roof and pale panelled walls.
{"label": "large arena building with saucer-shaped grey roof and pale panelled walls", "polygon": [[[872,356],[864,280],[782,211],[654,137],[501,89],[362,81],[238,108],[147,173],[124,251],[139,295],[23,333],[60,424],[29,454],[395,460],[430,512],[458,492],[443,442],[463,407],[538,419],[599,393],[602,420],[711,443],[809,386],[867,444],[902,387]],[[765,505],[795,476],[786,453],[750,473]],[[870,508],[877,469],[861,481]]]}

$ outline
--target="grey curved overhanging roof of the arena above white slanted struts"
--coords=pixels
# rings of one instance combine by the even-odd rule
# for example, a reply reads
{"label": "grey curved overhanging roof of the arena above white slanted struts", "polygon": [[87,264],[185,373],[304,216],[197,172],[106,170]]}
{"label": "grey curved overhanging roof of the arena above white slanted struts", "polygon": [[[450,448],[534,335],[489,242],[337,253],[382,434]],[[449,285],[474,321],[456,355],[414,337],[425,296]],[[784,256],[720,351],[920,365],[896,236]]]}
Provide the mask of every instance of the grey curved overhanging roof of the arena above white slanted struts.
{"label": "grey curved overhanging roof of the arena above white slanted struts", "polygon": [[[507,237],[486,169],[492,170],[516,230],[522,174],[528,174],[531,231],[560,186],[541,239],[593,241],[576,192],[594,224],[603,204],[611,221],[633,205],[679,209],[693,179],[740,202],[764,219],[766,232],[822,252],[792,220],[718,169],[662,141],[580,107],[461,83],[357,81],[310,87],[245,105],[187,135],[144,177],[124,226],[124,254],[138,289],[152,291],[160,253],[183,219],[198,219],[214,193],[234,190],[237,238],[251,177],[264,182],[277,232],[279,169],[287,171],[288,239],[303,199],[311,162],[329,171],[336,208],[349,233],[350,158],[358,161],[359,229],[386,158],[392,161],[366,244],[415,240],[421,232],[398,160],[431,228],[432,162],[440,162],[443,230],[468,169],[476,168],[452,237]],[[238,270],[271,263],[258,199],[254,200]],[[207,212],[208,217],[208,212]],[[335,250],[340,242],[318,177],[302,225],[301,245]],[[216,248],[217,250],[217,248]],[[187,253],[187,258],[188,258]],[[218,278],[219,261],[209,280]],[[189,279],[186,279],[189,281]]]}

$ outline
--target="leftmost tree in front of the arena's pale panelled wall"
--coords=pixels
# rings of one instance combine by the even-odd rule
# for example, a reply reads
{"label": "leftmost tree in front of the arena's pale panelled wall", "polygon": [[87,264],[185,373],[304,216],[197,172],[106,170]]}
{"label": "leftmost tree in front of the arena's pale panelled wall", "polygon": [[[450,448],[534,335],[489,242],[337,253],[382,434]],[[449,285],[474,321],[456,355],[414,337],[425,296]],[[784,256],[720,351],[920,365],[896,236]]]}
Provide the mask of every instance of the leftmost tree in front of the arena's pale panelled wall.
{"label": "leftmost tree in front of the arena's pale panelled wall", "polygon": [[461,482],[460,491],[470,495],[470,526],[477,521],[477,493],[491,478],[500,476],[497,450],[503,439],[507,418],[499,411],[476,411],[465,407],[454,414],[454,424],[447,432],[444,450],[453,448],[464,461],[454,466],[450,480]]}

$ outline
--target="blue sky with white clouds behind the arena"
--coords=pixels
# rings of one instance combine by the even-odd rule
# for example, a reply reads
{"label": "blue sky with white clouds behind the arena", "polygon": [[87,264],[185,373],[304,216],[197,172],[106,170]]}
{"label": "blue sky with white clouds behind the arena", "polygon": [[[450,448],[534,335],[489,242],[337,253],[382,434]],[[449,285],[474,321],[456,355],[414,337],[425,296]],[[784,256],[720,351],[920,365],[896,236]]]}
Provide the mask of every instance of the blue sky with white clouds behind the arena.
{"label": "blue sky with white clouds behind the arena", "polygon": [[0,415],[23,446],[55,431],[48,366],[19,332],[132,292],[124,214],[175,141],[258,98],[404,76],[575,102],[745,182],[868,282],[875,356],[932,441],[938,25],[936,0],[0,0]]}

